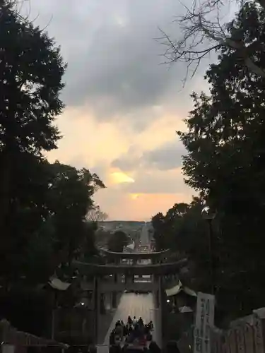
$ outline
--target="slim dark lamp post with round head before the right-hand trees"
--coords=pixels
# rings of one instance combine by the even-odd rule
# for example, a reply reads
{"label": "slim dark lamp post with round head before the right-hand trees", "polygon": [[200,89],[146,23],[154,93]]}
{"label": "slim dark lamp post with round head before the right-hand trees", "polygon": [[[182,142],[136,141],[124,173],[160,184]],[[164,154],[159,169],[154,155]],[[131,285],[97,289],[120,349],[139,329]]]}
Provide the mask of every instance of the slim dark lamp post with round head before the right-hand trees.
{"label": "slim dark lamp post with round head before the right-hand trees", "polygon": [[208,222],[208,251],[209,251],[209,258],[210,258],[210,281],[211,281],[211,294],[215,292],[215,273],[214,273],[214,251],[213,251],[213,225],[212,221],[214,217],[216,217],[216,213],[213,213],[211,208],[206,206],[202,211],[201,215]]}

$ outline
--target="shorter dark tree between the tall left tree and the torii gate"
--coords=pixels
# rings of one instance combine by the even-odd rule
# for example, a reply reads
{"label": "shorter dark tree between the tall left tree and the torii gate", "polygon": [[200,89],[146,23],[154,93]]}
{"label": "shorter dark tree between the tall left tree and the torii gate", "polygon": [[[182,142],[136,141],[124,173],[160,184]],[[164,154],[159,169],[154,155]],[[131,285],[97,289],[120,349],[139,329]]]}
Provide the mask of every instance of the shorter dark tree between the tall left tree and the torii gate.
{"label": "shorter dark tree between the tall left tree and the torii gate", "polygon": [[[88,169],[78,170],[59,162],[47,164],[47,169],[49,187],[45,207],[49,213],[40,231],[30,239],[29,246],[35,244],[37,248],[35,251],[30,248],[28,255],[36,256],[37,250],[46,251],[46,255],[42,253],[43,256],[61,251],[62,258],[57,256],[57,261],[67,261],[69,264],[78,256],[92,256],[95,254],[94,232],[97,226],[86,222],[86,214],[93,207],[93,193],[104,184]],[[41,250],[42,241],[44,247]],[[50,261],[50,258],[46,257],[46,261]],[[44,263],[41,262],[42,265]]]}

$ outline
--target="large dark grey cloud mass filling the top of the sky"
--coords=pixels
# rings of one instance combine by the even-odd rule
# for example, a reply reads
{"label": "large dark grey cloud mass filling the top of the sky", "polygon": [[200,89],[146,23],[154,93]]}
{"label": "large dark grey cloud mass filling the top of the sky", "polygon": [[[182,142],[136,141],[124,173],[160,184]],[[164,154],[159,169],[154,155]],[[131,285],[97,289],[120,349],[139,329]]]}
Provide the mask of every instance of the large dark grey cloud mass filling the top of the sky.
{"label": "large dark grey cloud mass filling the top of the sky", "polygon": [[98,119],[131,119],[134,112],[136,128],[152,119],[141,116],[141,109],[163,104],[168,95],[175,95],[179,109],[187,104],[189,85],[177,95],[183,70],[160,65],[165,48],[155,41],[158,26],[177,36],[172,20],[183,11],[179,1],[67,0],[62,6],[62,1],[31,0],[31,17],[40,13],[36,23],[42,27],[51,20],[47,30],[69,63],[66,104],[88,104]]}

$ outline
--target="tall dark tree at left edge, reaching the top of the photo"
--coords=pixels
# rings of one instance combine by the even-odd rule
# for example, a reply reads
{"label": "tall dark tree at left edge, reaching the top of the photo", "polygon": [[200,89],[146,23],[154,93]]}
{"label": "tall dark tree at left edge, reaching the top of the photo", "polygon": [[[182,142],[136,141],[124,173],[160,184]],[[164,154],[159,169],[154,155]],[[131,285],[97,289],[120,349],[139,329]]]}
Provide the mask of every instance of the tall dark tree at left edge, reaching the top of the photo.
{"label": "tall dark tree at left edge, reaching the top of the photo", "polygon": [[11,257],[43,217],[42,151],[56,148],[59,139],[54,118],[64,107],[59,92],[66,65],[47,33],[10,2],[1,4],[0,28],[0,258],[12,248],[12,268]]}

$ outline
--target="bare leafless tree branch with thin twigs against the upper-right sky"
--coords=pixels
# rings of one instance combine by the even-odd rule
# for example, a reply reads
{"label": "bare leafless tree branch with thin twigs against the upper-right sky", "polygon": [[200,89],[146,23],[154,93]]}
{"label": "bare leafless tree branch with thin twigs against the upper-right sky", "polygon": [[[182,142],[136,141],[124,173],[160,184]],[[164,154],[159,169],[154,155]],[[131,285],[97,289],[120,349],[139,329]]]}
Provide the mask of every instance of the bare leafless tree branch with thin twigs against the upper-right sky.
{"label": "bare leafless tree branch with thin twigs against the upper-right sky", "polygon": [[[265,9],[265,0],[255,1]],[[235,0],[235,2],[238,1]],[[244,2],[245,0],[241,0],[239,6],[243,6]],[[175,20],[182,32],[180,40],[172,40],[169,35],[160,29],[163,35],[160,42],[166,47],[165,63],[184,62],[187,64],[184,82],[186,82],[191,71],[190,76],[194,76],[202,59],[221,47],[235,49],[238,59],[244,61],[245,66],[250,71],[265,78],[264,69],[257,66],[249,56],[250,46],[247,46],[242,40],[235,40],[229,34],[229,23],[225,22],[225,16],[223,18],[221,16],[224,6],[229,5],[229,0],[224,1],[224,3],[221,0],[205,0],[202,3],[199,0],[194,0],[191,8],[183,5],[186,14]],[[215,20],[213,19],[214,15],[217,18]]]}

